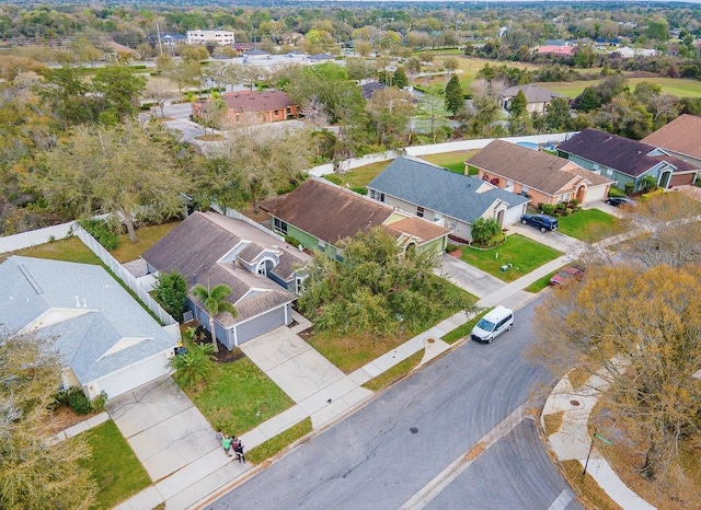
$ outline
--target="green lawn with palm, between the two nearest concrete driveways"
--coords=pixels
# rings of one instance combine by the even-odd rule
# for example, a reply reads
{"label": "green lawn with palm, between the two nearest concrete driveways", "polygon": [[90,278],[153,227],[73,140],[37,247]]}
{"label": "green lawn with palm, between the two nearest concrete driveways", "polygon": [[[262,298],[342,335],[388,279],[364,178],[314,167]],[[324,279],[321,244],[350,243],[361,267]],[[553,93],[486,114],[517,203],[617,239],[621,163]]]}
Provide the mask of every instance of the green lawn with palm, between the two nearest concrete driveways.
{"label": "green lawn with palm, between the two nearest concrete driveways", "polygon": [[295,403],[245,356],[215,363],[206,384],[183,387],[214,429],[241,436]]}

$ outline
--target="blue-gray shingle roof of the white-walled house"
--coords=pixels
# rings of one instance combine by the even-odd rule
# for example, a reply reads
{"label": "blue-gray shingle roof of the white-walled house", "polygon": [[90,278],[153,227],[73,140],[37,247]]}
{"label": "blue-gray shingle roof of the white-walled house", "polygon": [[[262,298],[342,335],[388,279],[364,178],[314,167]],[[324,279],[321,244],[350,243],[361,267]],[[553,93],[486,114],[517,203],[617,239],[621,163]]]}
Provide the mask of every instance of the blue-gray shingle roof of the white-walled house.
{"label": "blue-gray shingle roof of the white-walled house", "polygon": [[[482,186],[492,189],[478,193]],[[495,200],[502,200],[509,207],[528,201],[526,197],[505,192],[476,177],[409,158],[395,159],[368,184],[368,188],[468,223],[484,215]]]}

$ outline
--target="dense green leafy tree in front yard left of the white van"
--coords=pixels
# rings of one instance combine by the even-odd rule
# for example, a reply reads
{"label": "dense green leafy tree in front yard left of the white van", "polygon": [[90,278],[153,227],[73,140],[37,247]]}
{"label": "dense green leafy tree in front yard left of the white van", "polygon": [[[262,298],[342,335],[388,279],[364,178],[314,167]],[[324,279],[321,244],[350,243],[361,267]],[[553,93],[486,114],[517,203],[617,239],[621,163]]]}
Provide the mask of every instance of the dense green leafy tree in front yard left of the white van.
{"label": "dense green leafy tree in front yard left of the white van", "polygon": [[341,243],[343,263],[314,254],[300,308],[320,329],[394,334],[402,324],[425,327],[445,308],[470,309],[433,274],[438,260],[429,252],[400,253],[381,228]]}

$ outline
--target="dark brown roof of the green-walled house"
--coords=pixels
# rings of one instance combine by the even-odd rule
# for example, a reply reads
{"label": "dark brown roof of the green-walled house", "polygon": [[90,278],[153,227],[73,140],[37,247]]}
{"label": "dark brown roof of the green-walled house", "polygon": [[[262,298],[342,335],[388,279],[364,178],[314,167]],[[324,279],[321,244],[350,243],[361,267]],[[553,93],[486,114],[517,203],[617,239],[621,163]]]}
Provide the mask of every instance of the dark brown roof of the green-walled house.
{"label": "dark brown roof of the green-walled house", "polygon": [[[390,223],[394,230],[401,227],[402,234],[416,237],[420,244],[448,233],[447,229],[418,218],[421,223],[394,222],[394,218],[391,217],[399,216],[399,220],[405,215],[394,211],[390,206],[314,177],[304,181],[292,193],[266,201],[261,207],[271,216],[333,245],[358,232],[368,232],[374,227]],[[428,223],[433,229],[426,228],[423,223]]]}

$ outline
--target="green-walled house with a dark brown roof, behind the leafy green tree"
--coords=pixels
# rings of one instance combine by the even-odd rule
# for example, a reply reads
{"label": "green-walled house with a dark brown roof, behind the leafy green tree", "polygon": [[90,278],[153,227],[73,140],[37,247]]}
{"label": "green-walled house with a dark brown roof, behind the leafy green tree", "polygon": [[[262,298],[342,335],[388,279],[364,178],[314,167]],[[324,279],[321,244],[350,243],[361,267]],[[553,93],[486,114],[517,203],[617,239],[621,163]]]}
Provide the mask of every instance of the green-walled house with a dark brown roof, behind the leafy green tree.
{"label": "green-walled house with a dark brown roof, behind the leafy green tree", "polygon": [[261,207],[273,217],[276,232],[340,260],[340,241],[375,227],[384,229],[403,250],[443,252],[447,246],[447,229],[315,177]]}

